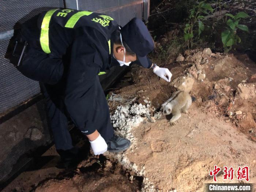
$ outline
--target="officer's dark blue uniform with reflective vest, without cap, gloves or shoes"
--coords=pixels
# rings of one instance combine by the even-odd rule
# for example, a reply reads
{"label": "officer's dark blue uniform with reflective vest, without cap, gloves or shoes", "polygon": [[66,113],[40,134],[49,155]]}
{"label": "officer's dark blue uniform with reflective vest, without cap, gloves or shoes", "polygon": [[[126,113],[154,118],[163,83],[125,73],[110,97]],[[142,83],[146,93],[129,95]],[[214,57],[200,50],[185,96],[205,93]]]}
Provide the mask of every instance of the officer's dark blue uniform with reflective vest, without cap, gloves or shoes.
{"label": "officer's dark blue uniform with reflective vest, without cap, gloves or shoes", "polygon": [[98,74],[117,63],[112,59],[111,35],[118,25],[107,15],[82,14],[76,10],[43,12],[22,27],[29,47],[19,70],[44,83],[57,150],[73,147],[68,116],[86,135],[97,129],[108,141],[114,134]]}

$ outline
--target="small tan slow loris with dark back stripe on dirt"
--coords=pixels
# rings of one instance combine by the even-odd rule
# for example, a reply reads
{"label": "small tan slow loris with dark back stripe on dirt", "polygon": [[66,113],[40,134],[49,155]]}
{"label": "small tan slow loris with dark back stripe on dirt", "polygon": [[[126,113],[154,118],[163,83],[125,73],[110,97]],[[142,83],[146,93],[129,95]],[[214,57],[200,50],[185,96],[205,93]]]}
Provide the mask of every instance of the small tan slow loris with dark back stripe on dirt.
{"label": "small tan slow loris with dark back stripe on dirt", "polygon": [[169,115],[172,113],[172,118],[170,119],[170,124],[175,125],[181,117],[182,113],[188,113],[188,108],[191,106],[192,99],[191,96],[185,91],[176,91],[172,94],[165,103],[161,105],[161,112],[164,115]]}

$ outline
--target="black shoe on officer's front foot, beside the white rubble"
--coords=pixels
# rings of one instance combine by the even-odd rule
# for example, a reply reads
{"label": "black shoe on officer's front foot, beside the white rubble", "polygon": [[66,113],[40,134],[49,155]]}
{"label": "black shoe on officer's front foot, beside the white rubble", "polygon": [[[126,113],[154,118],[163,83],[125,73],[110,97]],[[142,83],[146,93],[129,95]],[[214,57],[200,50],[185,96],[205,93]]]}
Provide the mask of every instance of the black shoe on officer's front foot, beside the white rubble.
{"label": "black shoe on officer's front foot, beside the white rubble", "polygon": [[119,153],[127,150],[131,146],[131,142],[128,139],[121,138],[118,135],[114,135],[108,140],[108,151],[111,153]]}

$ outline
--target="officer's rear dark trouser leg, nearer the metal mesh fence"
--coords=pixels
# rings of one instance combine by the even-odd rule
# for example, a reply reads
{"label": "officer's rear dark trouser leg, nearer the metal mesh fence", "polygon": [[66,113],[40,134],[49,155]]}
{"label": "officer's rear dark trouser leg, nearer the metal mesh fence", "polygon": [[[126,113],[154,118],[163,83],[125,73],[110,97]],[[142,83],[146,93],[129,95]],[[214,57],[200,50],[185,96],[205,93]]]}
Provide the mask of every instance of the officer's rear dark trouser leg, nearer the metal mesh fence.
{"label": "officer's rear dark trouser leg, nearer the metal mesh fence", "polygon": [[68,119],[64,113],[65,106],[63,99],[58,94],[56,87],[43,84],[41,88],[46,98],[46,110],[53,132],[56,150],[69,150],[73,146],[68,131]]}

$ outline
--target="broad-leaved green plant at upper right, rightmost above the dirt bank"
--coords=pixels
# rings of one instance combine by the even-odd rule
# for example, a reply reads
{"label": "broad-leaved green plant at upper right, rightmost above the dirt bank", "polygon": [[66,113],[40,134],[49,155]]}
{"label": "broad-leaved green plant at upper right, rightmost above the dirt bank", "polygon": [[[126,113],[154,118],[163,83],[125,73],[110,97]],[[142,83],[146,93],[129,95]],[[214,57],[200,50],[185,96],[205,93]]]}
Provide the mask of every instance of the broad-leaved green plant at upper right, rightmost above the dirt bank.
{"label": "broad-leaved green plant at upper right, rightmost above the dirt bank", "polygon": [[237,35],[237,29],[249,32],[246,25],[239,24],[241,18],[247,18],[249,15],[245,12],[238,12],[235,16],[232,14],[226,14],[226,16],[229,16],[230,19],[227,20],[227,29],[221,33],[221,40],[225,52],[229,52],[232,49],[232,45],[241,42],[240,37]]}

